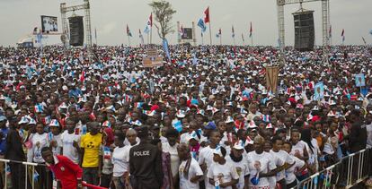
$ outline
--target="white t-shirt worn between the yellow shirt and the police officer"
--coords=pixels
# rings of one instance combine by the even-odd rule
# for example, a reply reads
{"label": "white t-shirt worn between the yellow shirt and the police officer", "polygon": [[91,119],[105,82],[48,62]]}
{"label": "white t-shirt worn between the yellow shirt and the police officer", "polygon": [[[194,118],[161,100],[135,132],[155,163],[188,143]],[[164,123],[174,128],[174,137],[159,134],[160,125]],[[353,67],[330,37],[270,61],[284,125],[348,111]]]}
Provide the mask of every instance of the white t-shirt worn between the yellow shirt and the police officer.
{"label": "white t-shirt worn between the yellow shirt and the police officer", "polygon": [[112,159],[111,163],[113,165],[112,168],[112,176],[123,176],[126,171],[128,171],[128,165],[126,164],[125,159],[125,146],[123,147],[116,147],[112,152]]}

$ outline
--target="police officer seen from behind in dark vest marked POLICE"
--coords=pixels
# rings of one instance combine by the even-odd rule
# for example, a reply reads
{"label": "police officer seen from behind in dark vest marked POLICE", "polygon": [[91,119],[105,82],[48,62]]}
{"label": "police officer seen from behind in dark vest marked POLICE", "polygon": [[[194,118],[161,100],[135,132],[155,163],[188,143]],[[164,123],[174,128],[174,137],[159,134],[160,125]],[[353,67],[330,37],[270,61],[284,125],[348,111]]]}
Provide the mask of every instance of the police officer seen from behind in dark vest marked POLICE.
{"label": "police officer seen from behind in dark vest marked POLICE", "polygon": [[136,128],[140,143],[129,151],[130,185],[134,189],[158,189],[163,184],[162,151],[148,141],[147,125]]}

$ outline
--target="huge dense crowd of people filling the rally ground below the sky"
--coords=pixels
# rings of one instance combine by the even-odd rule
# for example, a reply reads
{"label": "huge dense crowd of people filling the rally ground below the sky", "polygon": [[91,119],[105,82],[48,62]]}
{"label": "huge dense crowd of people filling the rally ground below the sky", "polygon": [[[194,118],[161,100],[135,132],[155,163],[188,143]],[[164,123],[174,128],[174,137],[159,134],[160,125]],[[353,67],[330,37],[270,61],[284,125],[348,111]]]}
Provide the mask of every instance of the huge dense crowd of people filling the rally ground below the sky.
{"label": "huge dense crowd of people filling the rally ground below the sky", "polygon": [[84,48],[0,47],[0,158],[12,160],[3,187],[51,188],[49,168],[26,178],[16,162],[46,164],[45,147],[81,166],[84,182],[116,189],[290,188],[372,147],[367,47],[330,47],[324,63],[322,49],[171,46],[156,68],[142,66],[146,48],[94,47],[90,64]]}

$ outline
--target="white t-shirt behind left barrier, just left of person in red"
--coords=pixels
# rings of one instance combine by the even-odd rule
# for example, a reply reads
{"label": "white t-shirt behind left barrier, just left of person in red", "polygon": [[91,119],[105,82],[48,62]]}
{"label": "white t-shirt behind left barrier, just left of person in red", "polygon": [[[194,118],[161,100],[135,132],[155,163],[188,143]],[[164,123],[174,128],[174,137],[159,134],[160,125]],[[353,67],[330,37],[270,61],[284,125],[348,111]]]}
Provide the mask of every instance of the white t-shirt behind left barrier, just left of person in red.
{"label": "white t-shirt behind left barrier, just left of person in red", "polygon": [[49,146],[48,133],[35,133],[31,139],[32,151],[33,151],[33,162],[44,163],[44,159],[41,157],[41,149]]}

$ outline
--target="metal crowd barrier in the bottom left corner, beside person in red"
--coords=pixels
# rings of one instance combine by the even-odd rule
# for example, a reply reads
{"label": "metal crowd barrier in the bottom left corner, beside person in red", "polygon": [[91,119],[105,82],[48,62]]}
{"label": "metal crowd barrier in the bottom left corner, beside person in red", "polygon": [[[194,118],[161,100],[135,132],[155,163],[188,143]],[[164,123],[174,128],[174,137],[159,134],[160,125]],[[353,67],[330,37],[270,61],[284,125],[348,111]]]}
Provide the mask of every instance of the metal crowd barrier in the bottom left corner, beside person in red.
{"label": "metal crowd barrier in the bottom left corner, beside person in red", "polygon": [[[14,183],[11,182],[11,185],[9,181],[9,176],[18,176],[16,179],[22,179],[24,177],[24,181],[19,180],[17,182],[17,185],[24,184],[25,189],[32,189],[32,188],[39,188],[35,187],[35,181],[38,179],[41,179],[40,174],[36,171],[36,168],[46,168],[44,164],[38,164],[38,163],[31,163],[31,162],[24,162],[24,161],[16,161],[16,160],[9,160],[9,159],[0,159],[0,163],[4,163],[4,172],[1,173],[1,176],[4,177],[3,181],[3,187],[4,188],[14,188]],[[21,167],[16,167],[14,165],[21,165]],[[24,166],[24,169],[22,168]],[[14,170],[12,170],[12,167]],[[13,171],[13,173],[12,173]],[[16,173],[16,174],[15,174]],[[20,177],[19,177],[20,176]],[[45,179],[46,184],[45,185],[50,185],[52,180],[49,179],[49,176],[45,176],[42,179]],[[13,178],[13,181],[15,178]],[[22,183],[24,182],[24,183]]]}

